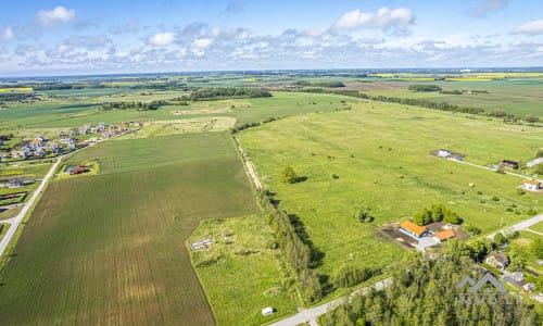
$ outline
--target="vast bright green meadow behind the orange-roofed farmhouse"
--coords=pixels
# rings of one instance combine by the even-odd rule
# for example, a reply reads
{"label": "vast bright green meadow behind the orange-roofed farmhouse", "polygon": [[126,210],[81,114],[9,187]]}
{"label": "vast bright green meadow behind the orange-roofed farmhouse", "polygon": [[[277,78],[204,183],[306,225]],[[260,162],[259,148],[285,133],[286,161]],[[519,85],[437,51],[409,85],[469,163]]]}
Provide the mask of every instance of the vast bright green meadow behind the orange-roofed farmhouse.
{"label": "vast bright green meadow behind the orange-roofed farmhouse", "polygon": [[[526,162],[543,141],[540,128],[395,104],[353,106],[239,134],[262,180],[289,213],[299,216],[310,239],[324,252],[318,272],[333,274],[351,253],[361,266],[396,261],[401,250],[378,240],[376,229],[432,203],[445,204],[483,231],[498,228],[502,216],[510,225],[527,218],[530,209],[541,211],[539,196],[517,195],[521,178],[430,154],[447,148],[481,164],[506,158]],[[306,180],[281,183],[285,165]],[[518,214],[508,212],[513,206]],[[375,221],[361,224],[353,217],[356,208],[369,209]]]}

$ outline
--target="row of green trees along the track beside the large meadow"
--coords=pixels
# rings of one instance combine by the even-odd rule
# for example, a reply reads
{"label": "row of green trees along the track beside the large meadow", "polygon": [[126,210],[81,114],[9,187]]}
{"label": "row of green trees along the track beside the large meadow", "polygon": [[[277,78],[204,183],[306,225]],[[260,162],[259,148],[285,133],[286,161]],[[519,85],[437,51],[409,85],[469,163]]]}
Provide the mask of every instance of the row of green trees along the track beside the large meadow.
{"label": "row of green trees along the track beside the large meadow", "polygon": [[262,192],[261,202],[268,214],[269,224],[287,262],[287,269],[298,284],[301,299],[307,303],[320,300],[323,288],[313,269],[315,255],[307,239],[300,235],[289,214],[277,206],[269,191]]}

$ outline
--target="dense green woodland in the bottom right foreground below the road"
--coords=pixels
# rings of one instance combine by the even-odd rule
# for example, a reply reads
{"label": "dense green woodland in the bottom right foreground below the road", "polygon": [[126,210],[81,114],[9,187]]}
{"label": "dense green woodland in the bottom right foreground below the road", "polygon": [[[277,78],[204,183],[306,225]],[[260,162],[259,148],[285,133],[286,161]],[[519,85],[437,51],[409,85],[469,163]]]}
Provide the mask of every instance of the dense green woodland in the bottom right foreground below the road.
{"label": "dense green woodland in the bottom right foreground below the road", "polygon": [[[450,241],[437,259],[413,253],[395,268],[383,291],[353,296],[325,317],[325,325],[541,325],[532,305],[513,296],[485,293],[485,302],[467,303],[469,286],[479,279],[465,244]],[[475,299],[473,299],[475,300]]]}

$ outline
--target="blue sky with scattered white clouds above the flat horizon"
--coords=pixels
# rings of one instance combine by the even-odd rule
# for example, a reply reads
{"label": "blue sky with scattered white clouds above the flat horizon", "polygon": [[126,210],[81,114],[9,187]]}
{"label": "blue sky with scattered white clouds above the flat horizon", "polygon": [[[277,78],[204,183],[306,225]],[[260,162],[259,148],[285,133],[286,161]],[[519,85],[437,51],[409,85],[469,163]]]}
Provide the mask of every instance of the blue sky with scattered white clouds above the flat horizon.
{"label": "blue sky with scattered white clouds above the flat horizon", "polygon": [[0,77],[543,66],[541,0],[1,1]]}

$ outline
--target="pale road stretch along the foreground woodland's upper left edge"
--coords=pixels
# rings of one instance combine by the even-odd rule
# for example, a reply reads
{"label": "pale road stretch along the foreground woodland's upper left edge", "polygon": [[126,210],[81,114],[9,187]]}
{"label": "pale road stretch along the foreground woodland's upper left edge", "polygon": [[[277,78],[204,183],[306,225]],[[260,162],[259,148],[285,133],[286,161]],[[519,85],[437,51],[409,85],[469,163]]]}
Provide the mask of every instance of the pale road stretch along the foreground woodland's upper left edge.
{"label": "pale road stretch along the foreground woodland's upper left edge", "polygon": [[[384,280],[376,283],[371,287],[375,288],[375,289],[377,289],[377,290],[382,290],[386,287],[388,287],[391,283],[392,283],[392,279],[391,278],[387,278]],[[362,289],[359,289],[357,291],[352,292],[349,296],[341,297],[339,299],[332,300],[330,302],[327,302],[327,303],[324,303],[324,304],[320,304],[320,305],[317,305],[317,306],[314,306],[314,308],[310,308],[307,310],[299,312],[298,314],[295,314],[293,316],[290,316],[288,318],[281,319],[279,322],[274,323],[274,324],[270,324],[270,326],[294,326],[294,325],[299,325],[299,324],[303,324],[303,323],[310,323],[310,322],[316,319],[318,316],[324,315],[327,312],[329,312],[330,310],[337,308],[338,305],[340,305],[345,300],[349,300],[350,296],[353,296],[353,294],[364,294],[367,291],[369,291],[369,289],[371,287],[362,288]]]}

